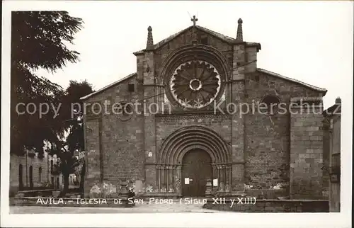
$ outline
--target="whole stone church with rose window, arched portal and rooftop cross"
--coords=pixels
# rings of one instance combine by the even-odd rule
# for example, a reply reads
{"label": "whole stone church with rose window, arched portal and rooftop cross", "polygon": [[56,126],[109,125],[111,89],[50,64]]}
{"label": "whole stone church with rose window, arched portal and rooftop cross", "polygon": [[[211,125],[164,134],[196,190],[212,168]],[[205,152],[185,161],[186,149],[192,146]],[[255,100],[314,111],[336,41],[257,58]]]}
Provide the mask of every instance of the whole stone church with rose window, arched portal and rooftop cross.
{"label": "whole stone church with rose window, arched portal and rooftop cross", "polygon": [[[154,197],[324,198],[326,89],[257,68],[241,19],[235,38],[192,21],[157,43],[147,28],[137,72],[81,98],[86,197],[127,182]],[[260,103],[278,108],[251,110]]]}

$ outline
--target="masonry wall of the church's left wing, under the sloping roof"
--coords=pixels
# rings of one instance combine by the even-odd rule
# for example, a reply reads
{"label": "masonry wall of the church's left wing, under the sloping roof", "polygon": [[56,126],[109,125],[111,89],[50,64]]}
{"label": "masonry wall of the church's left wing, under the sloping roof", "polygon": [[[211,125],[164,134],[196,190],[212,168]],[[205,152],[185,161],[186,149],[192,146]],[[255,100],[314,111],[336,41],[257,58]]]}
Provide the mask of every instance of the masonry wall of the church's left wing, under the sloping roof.
{"label": "masonry wall of the church's left wing, under the sloping roof", "polygon": [[[128,91],[128,84],[135,84],[135,92]],[[130,185],[144,181],[142,125],[139,124],[142,117],[135,113],[127,118],[112,111],[113,104],[117,108],[118,103],[139,101],[136,91],[137,85],[133,76],[85,101],[91,104],[106,103],[108,110],[108,113],[103,115],[86,115],[85,118],[88,152],[85,193],[88,196],[93,186],[100,188],[103,194],[108,194],[104,192],[105,186],[118,189],[117,186],[123,178],[126,178]]]}

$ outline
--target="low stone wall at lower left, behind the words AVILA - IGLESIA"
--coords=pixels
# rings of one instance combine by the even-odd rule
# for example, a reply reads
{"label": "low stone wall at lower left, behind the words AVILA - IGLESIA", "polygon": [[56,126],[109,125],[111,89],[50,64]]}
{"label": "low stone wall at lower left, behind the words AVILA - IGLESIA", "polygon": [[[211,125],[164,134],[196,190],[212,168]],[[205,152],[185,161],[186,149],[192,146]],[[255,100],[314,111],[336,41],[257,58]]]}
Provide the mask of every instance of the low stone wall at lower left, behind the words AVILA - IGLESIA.
{"label": "low stone wall at lower left, behind the words AVILA - IGLESIA", "polygon": [[134,207],[133,199],[122,198],[38,198],[23,197],[10,198],[11,206],[37,206],[37,207]]}

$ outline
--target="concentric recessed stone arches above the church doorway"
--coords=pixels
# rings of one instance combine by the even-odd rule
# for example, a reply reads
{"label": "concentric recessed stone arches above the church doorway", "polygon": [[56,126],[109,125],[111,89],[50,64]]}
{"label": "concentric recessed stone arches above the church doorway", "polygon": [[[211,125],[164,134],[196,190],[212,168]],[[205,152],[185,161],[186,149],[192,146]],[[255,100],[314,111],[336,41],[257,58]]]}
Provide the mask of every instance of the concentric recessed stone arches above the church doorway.
{"label": "concentric recessed stone arches above the church doorway", "polygon": [[181,127],[161,145],[159,164],[181,164],[183,155],[191,149],[203,149],[213,163],[231,161],[229,147],[217,132],[200,125]]}

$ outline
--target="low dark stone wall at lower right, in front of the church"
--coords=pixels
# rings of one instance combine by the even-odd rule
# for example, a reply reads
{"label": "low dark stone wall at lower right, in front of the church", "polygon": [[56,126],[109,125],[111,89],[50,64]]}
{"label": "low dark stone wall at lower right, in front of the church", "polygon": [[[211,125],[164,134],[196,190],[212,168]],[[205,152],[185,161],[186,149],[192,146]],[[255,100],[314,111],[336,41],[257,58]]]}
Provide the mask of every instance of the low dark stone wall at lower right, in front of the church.
{"label": "low dark stone wall at lower right, in front of the church", "polygon": [[203,208],[235,212],[329,212],[328,200],[256,200],[253,203],[238,204],[236,199],[232,205],[230,199],[219,204],[207,200]]}

